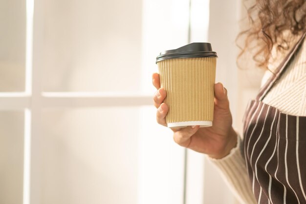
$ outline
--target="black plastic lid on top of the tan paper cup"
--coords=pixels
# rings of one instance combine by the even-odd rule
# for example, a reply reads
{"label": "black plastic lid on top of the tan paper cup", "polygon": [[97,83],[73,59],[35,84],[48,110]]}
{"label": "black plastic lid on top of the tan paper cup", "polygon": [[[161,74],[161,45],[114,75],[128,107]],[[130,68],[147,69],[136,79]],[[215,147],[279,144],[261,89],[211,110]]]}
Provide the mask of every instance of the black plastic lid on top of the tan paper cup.
{"label": "black plastic lid on top of the tan paper cup", "polygon": [[161,52],[156,58],[158,61],[175,58],[217,58],[217,53],[213,52],[212,46],[207,42],[193,42],[175,50]]}

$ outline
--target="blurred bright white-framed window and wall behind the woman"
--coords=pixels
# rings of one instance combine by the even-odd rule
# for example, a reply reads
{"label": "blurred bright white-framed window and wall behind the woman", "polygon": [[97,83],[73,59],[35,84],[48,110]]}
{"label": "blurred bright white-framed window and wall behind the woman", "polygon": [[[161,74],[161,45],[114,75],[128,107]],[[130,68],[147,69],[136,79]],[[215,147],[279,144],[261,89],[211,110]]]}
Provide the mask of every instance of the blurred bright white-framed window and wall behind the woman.
{"label": "blurred bright white-framed window and wall behind the woman", "polygon": [[156,123],[151,76],[161,51],[212,43],[241,130],[262,76],[236,65],[244,16],[242,0],[0,0],[0,204],[238,204]]}

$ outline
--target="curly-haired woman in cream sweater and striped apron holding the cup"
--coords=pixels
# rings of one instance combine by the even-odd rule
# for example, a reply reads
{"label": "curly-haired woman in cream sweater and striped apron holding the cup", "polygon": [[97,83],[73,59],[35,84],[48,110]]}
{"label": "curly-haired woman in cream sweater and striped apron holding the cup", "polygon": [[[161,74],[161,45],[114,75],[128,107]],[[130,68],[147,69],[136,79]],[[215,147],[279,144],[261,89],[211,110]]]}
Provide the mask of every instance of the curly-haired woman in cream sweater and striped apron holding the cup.
{"label": "curly-haired woman in cream sweater and striped apron holding the cup", "polygon": [[[247,107],[243,141],[221,83],[214,87],[213,126],[173,130],[174,140],[207,154],[241,203],[306,204],[306,2],[257,0],[248,16],[240,56],[254,53],[258,67],[272,74]],[[167,93],[157,73],[153,85],[157,122],[167,126]]]}

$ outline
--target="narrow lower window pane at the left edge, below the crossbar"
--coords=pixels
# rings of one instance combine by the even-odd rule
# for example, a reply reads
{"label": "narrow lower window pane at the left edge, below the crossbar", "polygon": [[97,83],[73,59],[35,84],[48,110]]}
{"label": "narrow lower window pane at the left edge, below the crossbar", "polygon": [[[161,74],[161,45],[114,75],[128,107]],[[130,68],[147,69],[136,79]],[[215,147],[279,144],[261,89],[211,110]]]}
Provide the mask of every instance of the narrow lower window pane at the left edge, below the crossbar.
{"label": "narrow lower window pane at the left edge, below the crossbar", "polygon": [[0,111],[0,152],[0,203],[22,204],[22,111]]}

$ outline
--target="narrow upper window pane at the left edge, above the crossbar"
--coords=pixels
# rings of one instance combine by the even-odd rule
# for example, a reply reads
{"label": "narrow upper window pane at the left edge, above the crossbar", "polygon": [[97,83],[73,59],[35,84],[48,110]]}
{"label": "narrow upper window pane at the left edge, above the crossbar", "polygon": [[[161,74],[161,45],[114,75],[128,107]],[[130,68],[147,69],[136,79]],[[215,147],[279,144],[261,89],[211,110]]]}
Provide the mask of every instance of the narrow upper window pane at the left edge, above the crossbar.
{"label": "narrow upper window pane at the left edge, above the crossbar", "polygon": [[0,1],[0,92],[24,91],[25,0]]}

